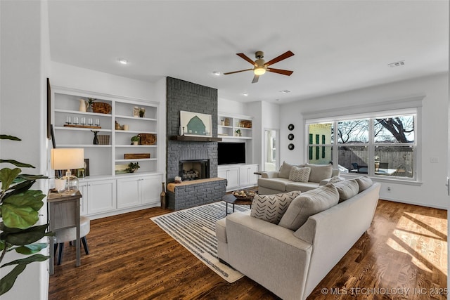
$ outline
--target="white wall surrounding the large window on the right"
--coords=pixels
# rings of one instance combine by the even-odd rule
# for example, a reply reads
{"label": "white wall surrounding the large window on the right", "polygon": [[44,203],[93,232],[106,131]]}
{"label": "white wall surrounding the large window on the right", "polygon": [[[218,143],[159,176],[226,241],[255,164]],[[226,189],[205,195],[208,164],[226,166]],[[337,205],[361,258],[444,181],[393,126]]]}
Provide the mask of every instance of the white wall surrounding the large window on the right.
{"label": "white wall surrounding the large window on the right", "polygon": [[[320,110],[342,109],[352,105],[371,105],[387,100],[401,100],[414,95],[425,95],[422,107],[422,155],[418,169],[422,172],[421,185],[382,183],[380,198],[398,202],[447,209],[446,179],[448,110],[448,74],[399,81],[348,91],[335,95],[313,98],[281,105],[281,162],[305,162],[305,129],[302,114]],[[383,110],[383,107],[379,107]],[[295,149],[288,150],[288,124],[294,124]],[[298,138],[297,138],[298,137]],[[437,157],[439,163],[431,163]],[[387,186],[391,191],[387,191]]]}

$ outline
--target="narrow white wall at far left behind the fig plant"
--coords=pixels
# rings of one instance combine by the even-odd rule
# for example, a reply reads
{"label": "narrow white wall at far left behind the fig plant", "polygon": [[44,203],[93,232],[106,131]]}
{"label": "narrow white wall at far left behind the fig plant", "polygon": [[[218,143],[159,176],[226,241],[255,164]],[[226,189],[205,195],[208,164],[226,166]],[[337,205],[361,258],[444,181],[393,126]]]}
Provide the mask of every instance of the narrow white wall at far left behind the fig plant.
{"label": "narrow white wall at far left behind the fig plant", "polygon": [[[0,132],[23,140],[1,141],[0,157],[27,162],[36,167],[23,168],[26,173],[45,174],[48,143],[46,66],[49,61],[46,2],[0,1],[0,13]],[[34,189],[46,193],[46,181],[38,181],[35,185]],[[45,205],[41,214],[39,223],[44,223]],[[2,263],[23,257],[10,252]],[[9,270],[10,267],[1,268],[1,276],[6,275]],[[46,299],[48,282],[47,262],[31,263],[1,299]]]}

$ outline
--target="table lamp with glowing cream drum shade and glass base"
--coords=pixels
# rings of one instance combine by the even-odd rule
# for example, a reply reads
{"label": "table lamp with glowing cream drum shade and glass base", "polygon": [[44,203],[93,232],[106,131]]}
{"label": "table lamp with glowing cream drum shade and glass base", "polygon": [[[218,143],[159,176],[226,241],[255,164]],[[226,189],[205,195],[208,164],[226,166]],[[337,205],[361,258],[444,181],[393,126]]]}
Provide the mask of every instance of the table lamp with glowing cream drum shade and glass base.
{"label": "table lamp with glowing cream drum shade and glass base", "polygon": [[[65,176],[55,179],[58,193],[77,193],[78,178],[70,174],[70,169],[81,168],[84,168],[83,148],[55,148],[51,150],[51,169],[67,170]],[[57,181],[60,181],[62,184],[59,185]]]}

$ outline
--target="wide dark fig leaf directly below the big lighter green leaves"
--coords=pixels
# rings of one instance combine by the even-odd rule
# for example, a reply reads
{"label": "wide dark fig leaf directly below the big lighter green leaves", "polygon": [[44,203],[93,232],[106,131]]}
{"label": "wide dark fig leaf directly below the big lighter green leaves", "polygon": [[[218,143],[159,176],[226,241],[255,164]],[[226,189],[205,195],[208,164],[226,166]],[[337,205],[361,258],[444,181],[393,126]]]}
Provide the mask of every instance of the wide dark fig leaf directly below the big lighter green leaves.
{"label": "wide dark fig leaf directly below the big lighter green leaves", "polygon": [[16,246],[25,246],[37,242],[46,235],[46,229],[49,224],[33,226],[25,230],[18,231],[17,228],[8,228],[3,226],[0,233],[0,240],[4,240]]}

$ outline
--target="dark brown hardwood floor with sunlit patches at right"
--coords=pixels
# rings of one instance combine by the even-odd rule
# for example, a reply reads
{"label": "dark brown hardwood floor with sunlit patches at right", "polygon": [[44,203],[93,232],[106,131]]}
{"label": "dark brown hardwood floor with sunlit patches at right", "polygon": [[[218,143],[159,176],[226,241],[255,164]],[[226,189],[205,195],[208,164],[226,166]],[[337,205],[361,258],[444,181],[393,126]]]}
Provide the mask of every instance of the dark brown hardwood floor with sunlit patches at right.
{"label": "dark brown hardwood floor with sunlit patches at right", "polygon": [[[229,284],[146,209],[91,221],[91,254],[65,246],[49,299],[277,299],[244,277]],[[380,200],[371,228],[308,299],[446,299],[446,211]],[[330,249],[333,251],[333,249]],[[445,289],[445,291],[444,291]]]}

